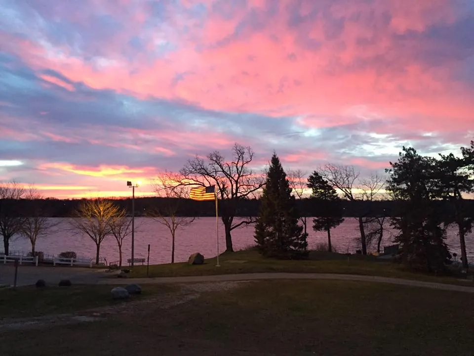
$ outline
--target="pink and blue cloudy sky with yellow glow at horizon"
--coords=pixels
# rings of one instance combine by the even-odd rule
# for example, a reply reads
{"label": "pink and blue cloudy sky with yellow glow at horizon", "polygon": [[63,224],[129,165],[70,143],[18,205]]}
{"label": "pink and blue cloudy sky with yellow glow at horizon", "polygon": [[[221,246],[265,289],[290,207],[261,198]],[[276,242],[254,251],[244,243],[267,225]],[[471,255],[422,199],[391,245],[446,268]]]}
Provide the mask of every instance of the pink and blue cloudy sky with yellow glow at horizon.
{"label": "pink and blue cloudy sky with yellow glow at horizon", "polygon": [[474,138],[473,0],[0,0],[0,181],[129,196],[234,142],[383,173]]}

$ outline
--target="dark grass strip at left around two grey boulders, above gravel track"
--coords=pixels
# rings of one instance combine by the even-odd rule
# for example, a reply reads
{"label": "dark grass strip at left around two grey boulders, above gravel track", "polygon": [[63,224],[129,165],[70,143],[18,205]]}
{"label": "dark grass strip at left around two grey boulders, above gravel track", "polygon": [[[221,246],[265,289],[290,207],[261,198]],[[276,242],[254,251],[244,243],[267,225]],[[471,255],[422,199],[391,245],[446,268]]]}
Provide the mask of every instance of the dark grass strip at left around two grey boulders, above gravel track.
{"label": "dark grass strip at left around two grey boulders, above gravel track", "polygon": [[[73,285],[71,287],[34,286],[0,289],[0,320],[3,317],[30,317],[53,313],[76,312],[123,303],[111,296],[112,285]],[[171,286],[152,285],[142,295],[132,296],[125,302],[147,298],[173,290]],[[1,353],[0,353],[1,355]]]}

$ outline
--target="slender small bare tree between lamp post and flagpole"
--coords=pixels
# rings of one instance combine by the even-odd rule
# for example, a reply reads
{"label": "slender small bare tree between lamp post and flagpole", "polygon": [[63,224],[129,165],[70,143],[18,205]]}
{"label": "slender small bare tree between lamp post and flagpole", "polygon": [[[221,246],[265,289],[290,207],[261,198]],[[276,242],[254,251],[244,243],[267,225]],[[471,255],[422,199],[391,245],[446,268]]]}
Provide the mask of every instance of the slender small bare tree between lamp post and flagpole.
{"label": "slender small bare tree between lamp post and flagpole", "polygon": [[166,201],[162,206],[152,210],[148,215],[156,222],[166,226],[171,233],[171,263],[174,263],[174,251],[176,246],[176,230],[189,226],[195,217],[183,217],[179,215],[180,203],[189,197],[188,190],[184,185],[177,185],[177,176],[164,173],[160,179],[152,183],[153,190]]}

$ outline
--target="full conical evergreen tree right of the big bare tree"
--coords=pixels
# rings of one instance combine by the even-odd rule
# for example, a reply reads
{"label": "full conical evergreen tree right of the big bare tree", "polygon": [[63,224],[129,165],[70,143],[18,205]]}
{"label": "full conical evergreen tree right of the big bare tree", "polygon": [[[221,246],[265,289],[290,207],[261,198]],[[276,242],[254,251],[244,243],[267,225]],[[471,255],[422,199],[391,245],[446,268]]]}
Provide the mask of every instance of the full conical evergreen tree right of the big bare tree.
{"label": "full conical evergreen tree right of the big bare tree", "polygon": [[276,153],[272,156],[266,185],[260,199],[255,241],[267,257],[304,258],[308,256],[308,234],[298,224],[295,197]]}

